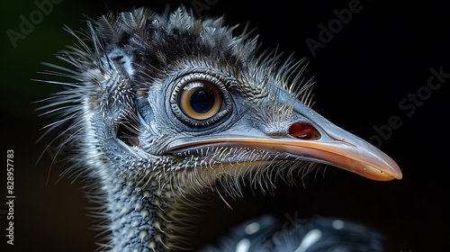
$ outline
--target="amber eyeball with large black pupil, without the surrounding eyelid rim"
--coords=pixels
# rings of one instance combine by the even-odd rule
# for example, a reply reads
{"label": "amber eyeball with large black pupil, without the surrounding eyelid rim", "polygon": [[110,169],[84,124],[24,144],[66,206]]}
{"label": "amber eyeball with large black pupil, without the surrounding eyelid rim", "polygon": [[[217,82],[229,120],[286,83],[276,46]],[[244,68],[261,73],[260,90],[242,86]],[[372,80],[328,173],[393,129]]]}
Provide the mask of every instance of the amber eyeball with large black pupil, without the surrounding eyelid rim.
{"label": "amber eyeball with large black pupil, without the surrounding eyelid rim", "polygon": [[220,89],[207,81],[193,81],[184,85],[178,97],[178,106],[193,120],[208,120],[220,111]]}

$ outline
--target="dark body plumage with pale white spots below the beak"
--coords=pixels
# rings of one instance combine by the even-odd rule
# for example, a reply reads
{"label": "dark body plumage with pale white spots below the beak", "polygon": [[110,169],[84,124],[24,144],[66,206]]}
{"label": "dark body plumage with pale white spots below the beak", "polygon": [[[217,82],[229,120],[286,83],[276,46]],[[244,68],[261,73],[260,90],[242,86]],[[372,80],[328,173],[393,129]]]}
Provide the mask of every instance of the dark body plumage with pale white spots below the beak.
{"label": "dark body plumage with pale white spots below the beak", "polygon": [[201,252],[383,251],[383,238],[372,229],[349,220],[314,217],[283,222],[264,215],[232,229],[227,238]]}

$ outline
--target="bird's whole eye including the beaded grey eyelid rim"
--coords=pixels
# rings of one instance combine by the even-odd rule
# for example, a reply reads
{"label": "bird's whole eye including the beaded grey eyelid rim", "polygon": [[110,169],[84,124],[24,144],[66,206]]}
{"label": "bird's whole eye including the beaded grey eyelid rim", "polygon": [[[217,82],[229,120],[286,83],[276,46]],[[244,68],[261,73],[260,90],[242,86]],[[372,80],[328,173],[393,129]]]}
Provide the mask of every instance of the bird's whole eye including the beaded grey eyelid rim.
{"label": "bird's whole eye including the beaded grey eyelid rim", "polygon": [[231,109],[225,85],[206,74],[182,77],[175,85],[170,103],[176,118],[195,127],[211,125]]}

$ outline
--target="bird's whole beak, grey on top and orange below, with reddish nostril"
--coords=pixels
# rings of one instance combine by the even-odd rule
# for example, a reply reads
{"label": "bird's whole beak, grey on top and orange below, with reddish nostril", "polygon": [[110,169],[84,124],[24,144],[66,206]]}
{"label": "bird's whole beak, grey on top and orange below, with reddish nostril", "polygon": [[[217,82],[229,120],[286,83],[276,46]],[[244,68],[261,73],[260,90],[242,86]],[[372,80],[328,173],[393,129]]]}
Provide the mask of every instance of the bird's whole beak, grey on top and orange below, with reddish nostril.
{"label": "bird's whole beak, grey on top and orange below, with reddish nostril", "polygon": [[288,125],[283,137],[270,137],[255,129],[243,133],[234,130],[215,136],[177,139],[168,148],[170,151],[211,146],[264,149],[296,160],[337,166],[373,180],[401,179],[401,169],[395,161],[364,139],[342,130],[303,103],[294,102],[293,112],[300,114],[302,120]]}

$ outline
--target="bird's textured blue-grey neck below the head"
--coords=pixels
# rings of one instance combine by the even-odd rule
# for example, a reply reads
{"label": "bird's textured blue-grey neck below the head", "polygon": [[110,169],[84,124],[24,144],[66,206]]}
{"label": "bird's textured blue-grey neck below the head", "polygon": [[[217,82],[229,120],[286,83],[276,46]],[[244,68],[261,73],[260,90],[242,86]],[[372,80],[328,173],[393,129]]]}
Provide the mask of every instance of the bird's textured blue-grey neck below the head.
{"label": "bird's textured blue-grey neck below the head", "polygon": [[107,205],[113,251],[165,251],[180,246],[183,238],[177,233],[184,227],[178,222],[192,219],[188,212],[180,211],[192,207],[186,194],[161,191],[151,181],[137,186],[118,177],[111,179],[107,183],[114,187],[107,188]]}

